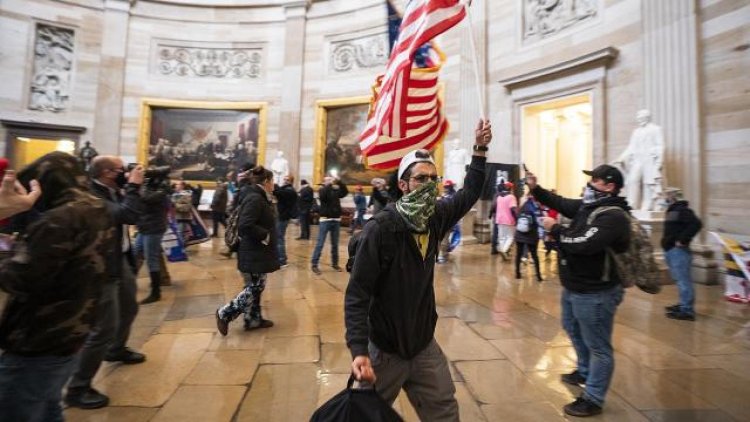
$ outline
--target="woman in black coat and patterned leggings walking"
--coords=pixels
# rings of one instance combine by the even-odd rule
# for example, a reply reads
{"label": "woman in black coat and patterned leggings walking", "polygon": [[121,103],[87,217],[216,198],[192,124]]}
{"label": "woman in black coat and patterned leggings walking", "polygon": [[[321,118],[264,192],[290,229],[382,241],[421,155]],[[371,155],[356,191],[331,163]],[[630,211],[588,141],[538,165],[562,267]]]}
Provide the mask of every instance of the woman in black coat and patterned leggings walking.
{"label": "woman in black coat and patterned leggings walking", "polygon": [[245,330],[269,328],[273,322],[264,319],[260,310],[260,296],[266,287],[266,277],[280,268],[276,250],[276,211],[272,202],[273,173],[263,166],[248,174],[249,186],[237,206],[240,209],[237,268],[245,280],[245,289],[231,302],[216,311],[216,326],[227,335],[229,322],[245,314]]}

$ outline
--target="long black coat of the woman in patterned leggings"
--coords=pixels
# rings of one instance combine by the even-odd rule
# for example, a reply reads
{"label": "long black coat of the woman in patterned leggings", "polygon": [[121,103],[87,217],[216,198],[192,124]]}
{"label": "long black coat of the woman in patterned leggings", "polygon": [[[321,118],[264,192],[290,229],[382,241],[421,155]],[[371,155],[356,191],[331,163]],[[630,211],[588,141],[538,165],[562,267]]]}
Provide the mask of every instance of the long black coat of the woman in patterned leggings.
{"label": "long black coat of the woman in patterned leggings", "polygon": [[267,274],[280,268],[276,251],[276,213],[266,192],[258,185],[248,185],[240,205],[237,232],[237,269],[243,273]]}

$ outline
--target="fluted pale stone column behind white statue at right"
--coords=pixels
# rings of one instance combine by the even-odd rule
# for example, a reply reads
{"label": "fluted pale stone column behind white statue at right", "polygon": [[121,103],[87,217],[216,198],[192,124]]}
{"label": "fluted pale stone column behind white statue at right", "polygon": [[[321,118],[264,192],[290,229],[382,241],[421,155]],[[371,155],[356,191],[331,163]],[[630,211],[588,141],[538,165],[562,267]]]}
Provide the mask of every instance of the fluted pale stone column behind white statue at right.
{"label": "fluted pale stone column behind white statue at right", "polygon": [[644,106],[664,129],[665,181],[704,215],[695,0],[641,2]]}

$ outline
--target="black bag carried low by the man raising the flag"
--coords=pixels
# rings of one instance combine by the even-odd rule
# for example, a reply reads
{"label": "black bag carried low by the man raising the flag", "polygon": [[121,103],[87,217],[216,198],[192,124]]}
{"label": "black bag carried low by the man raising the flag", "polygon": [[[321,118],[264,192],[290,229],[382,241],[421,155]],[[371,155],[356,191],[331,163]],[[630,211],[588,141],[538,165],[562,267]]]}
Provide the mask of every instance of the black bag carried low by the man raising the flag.
{"label": "black bag carried low by the man raising the flag", "polygon": [[352,388],[350,376],[346,390],[336,394],[313,413],[310,422],[402,422],[401,416],[380,397],[375,387]]}

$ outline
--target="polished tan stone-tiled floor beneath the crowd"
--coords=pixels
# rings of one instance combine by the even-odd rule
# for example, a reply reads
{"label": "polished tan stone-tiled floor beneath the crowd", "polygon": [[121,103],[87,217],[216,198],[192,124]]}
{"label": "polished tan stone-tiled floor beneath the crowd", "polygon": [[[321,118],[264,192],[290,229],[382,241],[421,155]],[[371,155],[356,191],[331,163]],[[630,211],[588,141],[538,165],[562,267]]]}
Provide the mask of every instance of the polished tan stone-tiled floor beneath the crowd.
{"label": "polished tan stone-tiled floor beneath the crowd", "polygon": [[[148,360],[105,364],[95,387],[111,406],[66,410],[79,421],[304,421],[345,387],[350,357],[344,343],[347,274],[328,264],[309,270],[311,241],[287,242],[290,266],[269,276],[265,316],[276,326],[229,335],[216,331],[214,311],[242,287],[235,261],[217,255],[221,239],[192,247],[190,261],[170,264],[173,286],[142,306],[131,345]],[[341,252],[346,256],[347,236]],[[559,375],[575,367],[560,327],[559,281],[543,263],[543,283],[513,278],[486,245],[462,246],[436,267],[440,319],[436,337],[451,362],[464,421],[563,420],[562,406],[579,393]],[[139,279],[139,297],[147,294]],[[727,303],[721,286],[697,286],[696,322],[663,317],[675,301],[668,286],[651,296],[628,291],[617,313],[616,371],[606,421],[750,420],[750,306]],[[395,408],[418,420],[402,394]]]}

